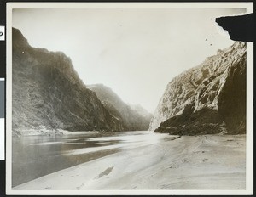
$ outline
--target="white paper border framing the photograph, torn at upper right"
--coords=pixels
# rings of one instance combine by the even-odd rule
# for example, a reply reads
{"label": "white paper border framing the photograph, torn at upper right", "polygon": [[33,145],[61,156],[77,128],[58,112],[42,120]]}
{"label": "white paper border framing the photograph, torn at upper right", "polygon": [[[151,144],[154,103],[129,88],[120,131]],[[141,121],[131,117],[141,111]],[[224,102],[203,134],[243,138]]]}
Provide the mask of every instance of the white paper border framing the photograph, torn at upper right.
{"label": "white paper border framing the photograph, torn at upper right", "polygon": [[253,3],[7,3],[7,77],[6,77],[6,194],[26,195],[129,195],[129,194],[253,194],[253,42],[247,42],[247,149],[245,190],[14,190],[11,188],[12,164],[12,10],[15,8],[246,8]]}

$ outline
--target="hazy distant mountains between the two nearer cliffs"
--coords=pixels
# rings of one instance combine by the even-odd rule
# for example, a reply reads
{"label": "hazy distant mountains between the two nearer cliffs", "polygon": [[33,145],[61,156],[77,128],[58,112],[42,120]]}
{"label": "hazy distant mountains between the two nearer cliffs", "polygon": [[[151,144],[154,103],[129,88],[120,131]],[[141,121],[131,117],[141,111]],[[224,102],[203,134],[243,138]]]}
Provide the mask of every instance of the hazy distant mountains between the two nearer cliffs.
{"label": "hazy distant mountains between the two nearer cliffs", "polygon": [[135,109],[129,104],[125,104],[111,88],[102,84],[88,85],[87,87],[96,93],[110,114],[123,123],[125,131],[148,130],[152,115],[147,110],[141,106]]}

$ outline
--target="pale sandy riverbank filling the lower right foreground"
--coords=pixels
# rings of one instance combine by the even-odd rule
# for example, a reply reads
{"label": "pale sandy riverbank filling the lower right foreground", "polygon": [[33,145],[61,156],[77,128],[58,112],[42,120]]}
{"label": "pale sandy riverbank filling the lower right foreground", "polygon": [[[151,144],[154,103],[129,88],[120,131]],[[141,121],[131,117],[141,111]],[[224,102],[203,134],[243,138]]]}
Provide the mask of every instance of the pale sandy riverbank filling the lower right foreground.
{"label": "pale sandy riverbank filling the lower right foreground", "polygon": [[173,138],[124,149],[13,189],[245,189],[246,135]]}

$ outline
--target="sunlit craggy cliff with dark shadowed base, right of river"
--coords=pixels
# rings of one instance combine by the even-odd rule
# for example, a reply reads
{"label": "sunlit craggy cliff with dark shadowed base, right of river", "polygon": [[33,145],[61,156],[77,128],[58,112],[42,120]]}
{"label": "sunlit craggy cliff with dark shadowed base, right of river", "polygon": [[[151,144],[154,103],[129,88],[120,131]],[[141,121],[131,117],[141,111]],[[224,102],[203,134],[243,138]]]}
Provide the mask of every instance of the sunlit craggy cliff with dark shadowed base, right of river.
{"label": "sunlit craggy cliff with dark shadowed base, right of river", "polygon": [[171,134],[246,132],[246,43],[218,50],[170,82],[150,130]]}

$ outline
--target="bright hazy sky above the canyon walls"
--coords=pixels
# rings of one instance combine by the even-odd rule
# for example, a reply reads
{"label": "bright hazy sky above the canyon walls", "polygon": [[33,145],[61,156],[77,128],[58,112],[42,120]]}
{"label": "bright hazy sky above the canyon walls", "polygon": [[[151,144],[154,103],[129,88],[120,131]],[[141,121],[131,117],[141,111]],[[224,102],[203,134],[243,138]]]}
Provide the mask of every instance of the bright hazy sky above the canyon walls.
{"label": "bright hazy sky above the canyon walls", "polygon": [[154,112],[168,82],[233,41],[215,18],[245,9],[15,9],[32,47],[62,51],[85,84]]}

